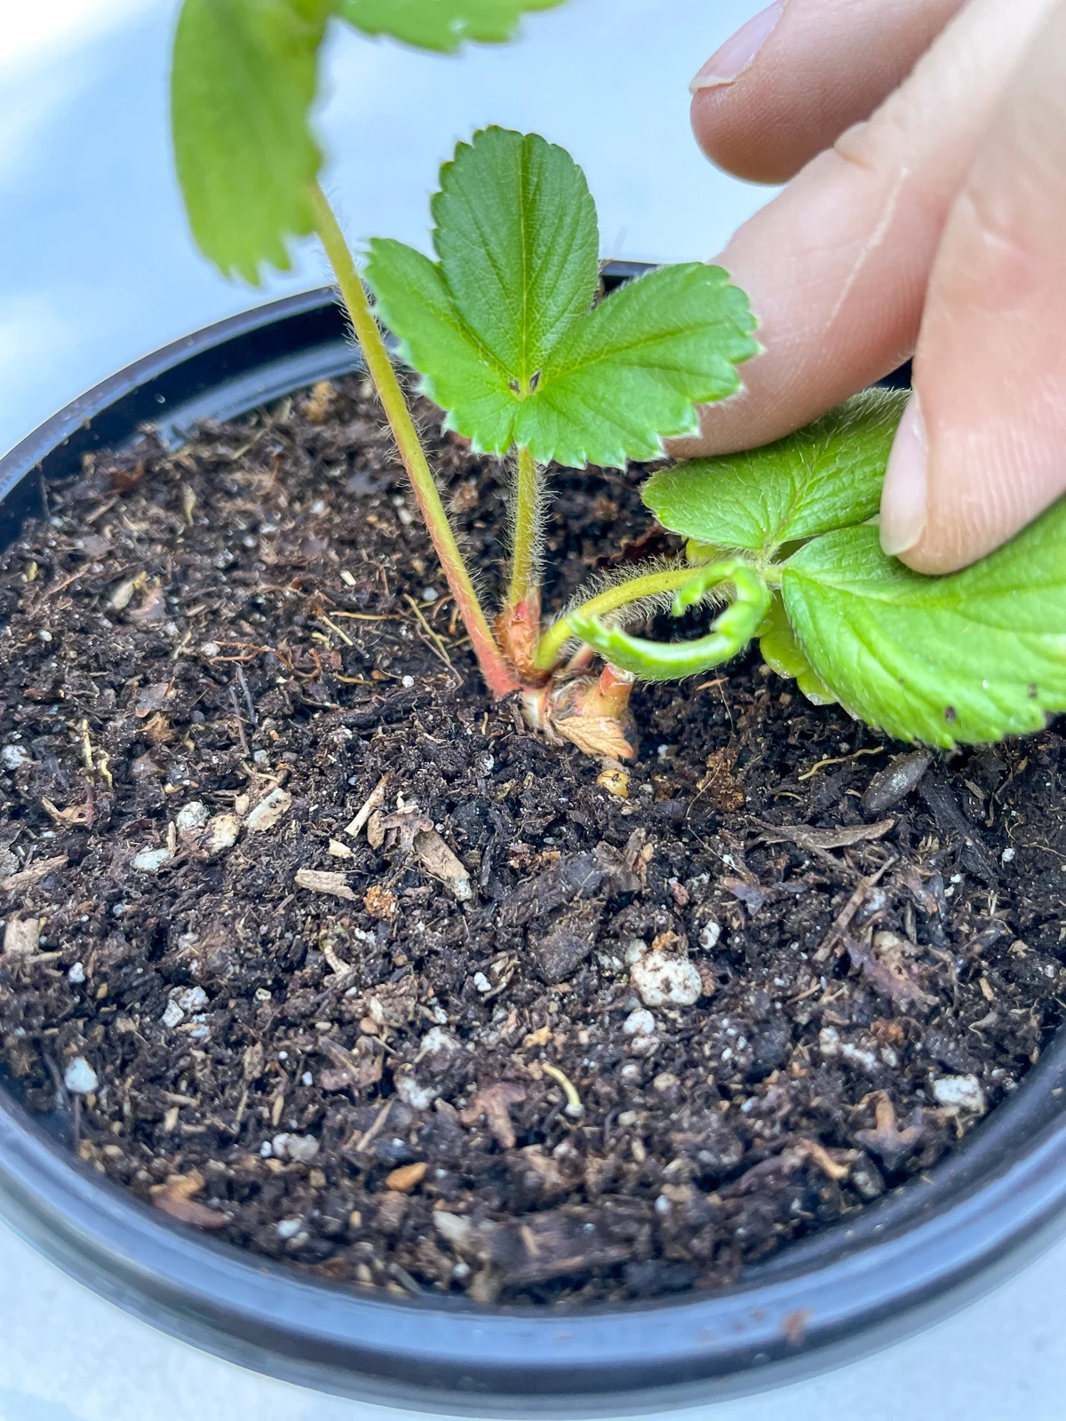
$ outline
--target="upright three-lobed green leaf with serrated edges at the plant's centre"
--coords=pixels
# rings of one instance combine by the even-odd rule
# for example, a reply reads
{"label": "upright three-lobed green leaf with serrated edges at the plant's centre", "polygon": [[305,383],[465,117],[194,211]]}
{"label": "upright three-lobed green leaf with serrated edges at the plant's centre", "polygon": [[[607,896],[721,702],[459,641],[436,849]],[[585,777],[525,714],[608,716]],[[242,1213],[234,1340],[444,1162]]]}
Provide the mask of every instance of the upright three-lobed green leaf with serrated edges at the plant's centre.
{"label": "upright three-lobed green leaf with serrated edges at the plant's centre", "polygon": [[696,426],[758,351],[725,271],[662,267],[593,307],[596,209],[580,168],[536,134],[461,144],[434,199],[438,263],[371,243],[378,315],[448,428],[479,450],[623,466]]}

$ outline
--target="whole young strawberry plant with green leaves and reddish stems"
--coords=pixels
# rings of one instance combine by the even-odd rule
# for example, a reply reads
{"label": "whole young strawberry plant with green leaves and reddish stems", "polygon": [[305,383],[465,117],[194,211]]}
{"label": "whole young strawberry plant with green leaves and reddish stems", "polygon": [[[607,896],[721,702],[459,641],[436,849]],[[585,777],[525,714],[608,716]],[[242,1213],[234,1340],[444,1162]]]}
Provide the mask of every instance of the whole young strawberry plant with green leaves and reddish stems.
{"label": "whole young strawberry plant with green leaves and reddish stems", "polygon": [[[644,497],[688,539],[542,621],[546,469],[624,468],[698,428],[739,388],[755,318],[723,270],[661,267],[603,297],[584,175],[536,134],[461,144],[432,199],[435,260],[388,239],[360,271],[318,185],[308,122],[331,17],[426,48],[503,40],[554,0],[185,0],[173,63],[178,172],[193,233],[257,281],[317,233],[486,684],[529,722],[611,757],[634,753],[632,684],[706,671],[758,637],[813,701],[904,739],[952,746],[1038,729],[1066,708],[1066,502],[952,577],[885,557],[871,520],[904,396],[867,392],[763,449],[664,468]],[[374,298],[371,304],[371,297]],[[381,323],[381,324],[379,324]],[[510,573],[486,614],[381,325],[445,426],[507,462]],[[650,611],[728,604],[695,639],[627,631]],[[596,655],[605,665],[591,674]]]}

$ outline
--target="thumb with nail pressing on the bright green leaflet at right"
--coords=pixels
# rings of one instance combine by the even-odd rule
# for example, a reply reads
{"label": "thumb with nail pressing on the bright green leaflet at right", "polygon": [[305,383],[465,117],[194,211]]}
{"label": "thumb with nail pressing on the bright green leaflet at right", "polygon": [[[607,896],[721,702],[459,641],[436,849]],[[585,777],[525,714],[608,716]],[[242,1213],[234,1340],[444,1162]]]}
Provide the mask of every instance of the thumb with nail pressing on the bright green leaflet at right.
{"label": "thumb with nail pressing on the bright green leaflet at right", "polygon": [[[920,573],[992,551],[1066,492],[1066,0],[1016,72],[932,266],[881,546]],[[1066,550],[1063,550],[1066,563]]]}

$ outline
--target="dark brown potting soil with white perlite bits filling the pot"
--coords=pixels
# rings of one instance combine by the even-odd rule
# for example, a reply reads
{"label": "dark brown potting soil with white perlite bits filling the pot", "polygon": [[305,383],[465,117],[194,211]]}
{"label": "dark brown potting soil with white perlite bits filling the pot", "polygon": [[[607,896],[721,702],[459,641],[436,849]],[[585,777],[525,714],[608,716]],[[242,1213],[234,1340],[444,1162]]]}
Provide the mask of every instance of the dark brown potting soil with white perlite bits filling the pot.
{"label": "dark brown potting soil with white perlite bits filling the pot", "polygon": [[[431,445],[490,583],[500,470]],[[669,546],[640,476],[556,476],[551,600]],[[628,784],[553,749],[355,379],[51,499],[0,573],[1,1056],[172,1216],[394,1292],[716,1287],[934,1165],[1059,1022],[1059,730],[878,806],[903,747],[752,657],[638,693]],[[701,999],[645,1006],[655,961]]]}

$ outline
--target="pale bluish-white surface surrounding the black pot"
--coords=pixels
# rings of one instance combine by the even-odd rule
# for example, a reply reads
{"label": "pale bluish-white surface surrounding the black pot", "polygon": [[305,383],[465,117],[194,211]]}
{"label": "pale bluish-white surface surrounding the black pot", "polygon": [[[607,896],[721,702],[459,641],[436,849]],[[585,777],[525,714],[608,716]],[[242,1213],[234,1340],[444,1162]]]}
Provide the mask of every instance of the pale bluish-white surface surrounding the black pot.
{"label": "pale bluish-white surface surrounding the black pot", "polygon": [[[321,131],[350,234],[424,244],[456,138],[536,128],[584,165],[604,254],[712,256],[768,193],[715,173],[687,82],[753,0],[570,0],[461,60],[337,36]],[[313,246],[260,291],[195,253],[173,183],[173,0],[0,0],[0,449],[114,369],[325,280]],[[1063,1421],[1066,1245],[924,1336],[709,1421]],[[193,1353],[0,1226],[0,1421],[387,1421]]]}

